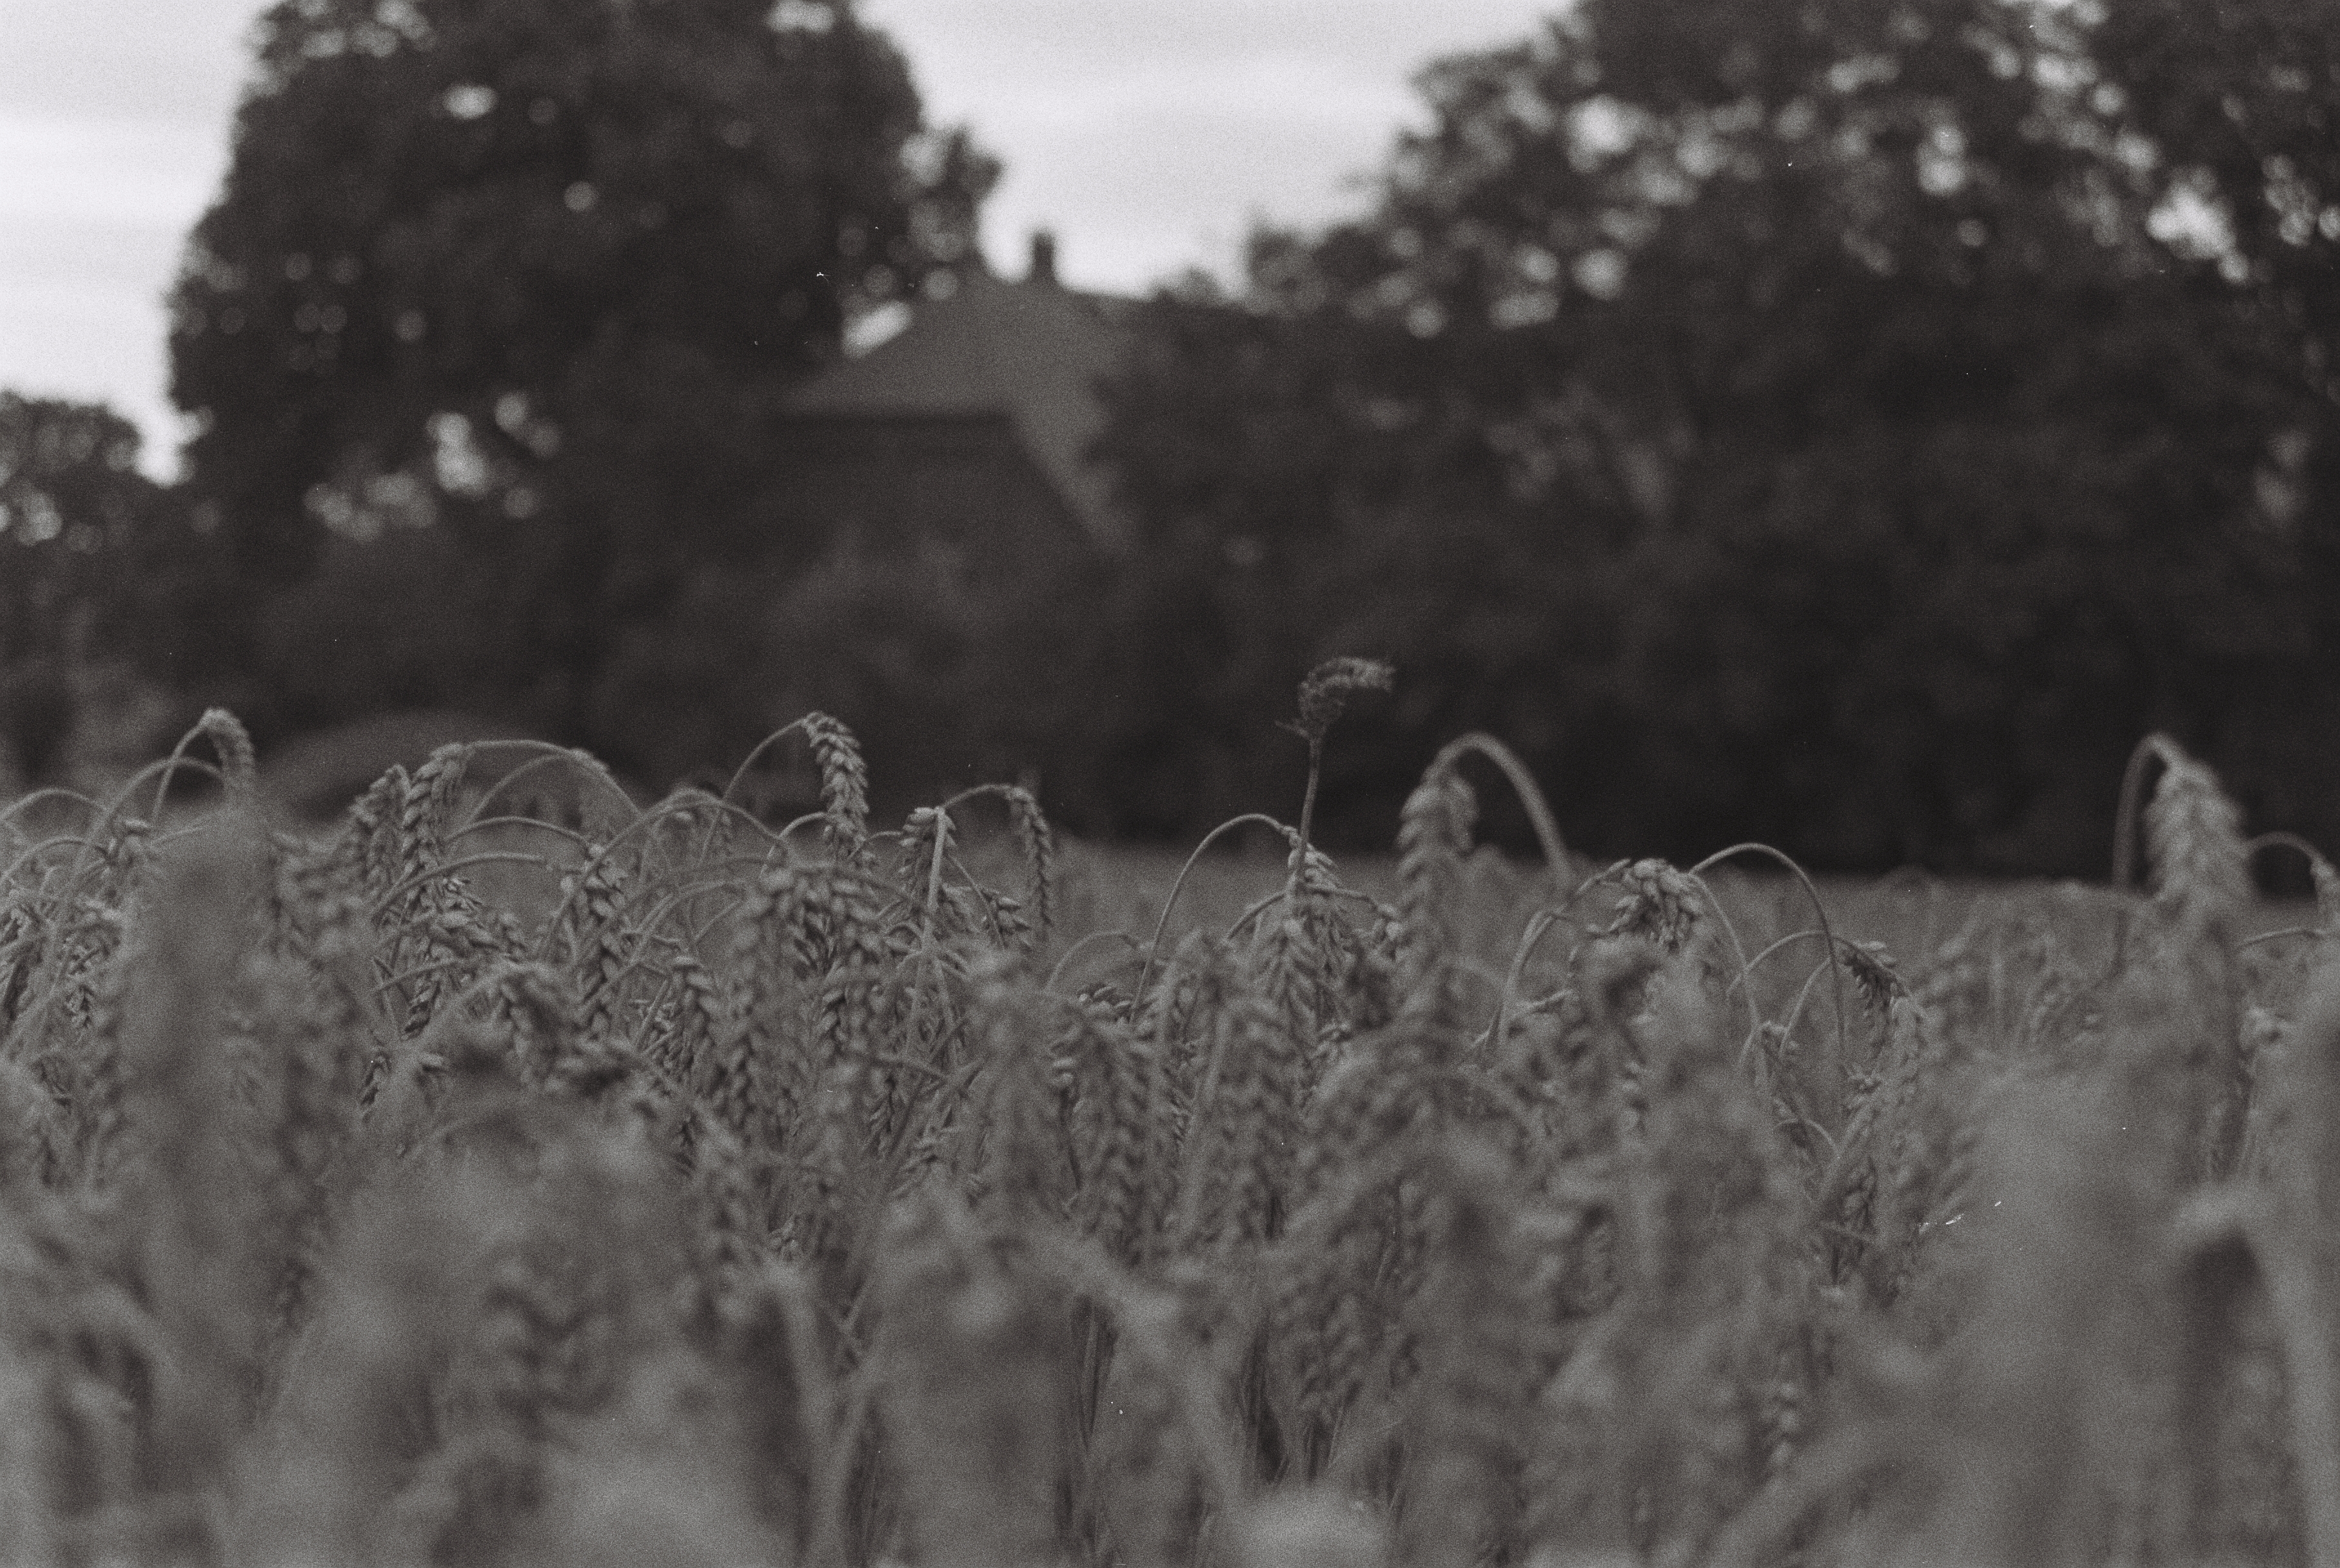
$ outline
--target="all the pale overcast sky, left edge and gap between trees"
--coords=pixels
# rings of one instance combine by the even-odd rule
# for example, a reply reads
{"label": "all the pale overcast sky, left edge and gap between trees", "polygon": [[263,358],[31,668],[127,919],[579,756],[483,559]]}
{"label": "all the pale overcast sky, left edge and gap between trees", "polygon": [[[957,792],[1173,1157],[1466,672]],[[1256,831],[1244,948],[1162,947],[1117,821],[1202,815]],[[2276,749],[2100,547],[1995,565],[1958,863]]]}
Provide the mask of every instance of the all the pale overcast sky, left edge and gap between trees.
{"label": "all the pale overcast sky, left edge and gap between trees", "polygon": [[[0,388],[105,400],[176,468],[161,295],[227,161],[262,0],[0,0]],[[938,124],[1006,161],[985,253],[1074,286],[1231,271],[1257,220],[1355,211],[1439,54],[1549,0],[861,0]]]}

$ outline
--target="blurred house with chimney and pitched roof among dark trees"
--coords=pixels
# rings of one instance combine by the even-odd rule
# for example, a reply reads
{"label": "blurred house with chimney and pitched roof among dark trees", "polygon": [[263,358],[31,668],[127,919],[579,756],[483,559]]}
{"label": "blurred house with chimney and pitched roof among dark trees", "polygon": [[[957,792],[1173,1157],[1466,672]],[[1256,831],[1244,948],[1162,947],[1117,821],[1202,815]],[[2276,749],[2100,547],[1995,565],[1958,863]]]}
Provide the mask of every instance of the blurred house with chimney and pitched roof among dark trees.
{"label": "blurred house with chimney and pitched roof among dark trees", "polygon": [[903,309],[894,337],[789,403],[807,522],[861,548],[941,543],[999,569],[1027,550],[1119,552],[1133,529],[1088,449],[1128,302],[1065,288],[1055,241],[1034,234],[1020,281],[976,264]]}

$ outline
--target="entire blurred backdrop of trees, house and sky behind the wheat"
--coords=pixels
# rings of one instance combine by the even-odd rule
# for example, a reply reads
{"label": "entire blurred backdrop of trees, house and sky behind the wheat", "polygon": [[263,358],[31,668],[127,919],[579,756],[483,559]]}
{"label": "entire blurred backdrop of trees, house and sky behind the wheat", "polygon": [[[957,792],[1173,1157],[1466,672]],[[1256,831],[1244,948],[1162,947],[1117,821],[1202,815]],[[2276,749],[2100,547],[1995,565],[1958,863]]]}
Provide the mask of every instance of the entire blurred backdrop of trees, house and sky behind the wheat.
{"label": "entire blurred backdrop of trees, house and sky behind the wheat", "polygon": [[1360,653],[1334,845],[1465,728],[1603,857],[2101,871],[2148,730],[2340,843],[2335,0],[147,9],[0,9],[0,793],[819,707],[1191,838]]}

